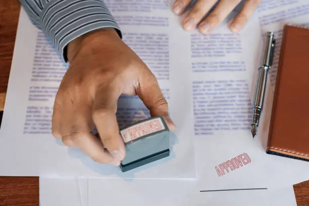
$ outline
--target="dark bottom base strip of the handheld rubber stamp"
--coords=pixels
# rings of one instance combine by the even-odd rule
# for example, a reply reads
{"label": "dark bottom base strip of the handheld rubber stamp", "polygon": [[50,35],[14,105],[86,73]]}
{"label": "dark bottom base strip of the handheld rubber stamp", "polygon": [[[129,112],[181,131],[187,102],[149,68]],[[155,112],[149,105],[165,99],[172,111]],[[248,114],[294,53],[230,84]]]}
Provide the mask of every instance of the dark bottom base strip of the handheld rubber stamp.
{"label": "dark bottom base strip of the handheld rubber stamp", "polygon": [[129,170],[134,169],[134,168],[146,165],[146,164],[151,163],[151,162],[155,162],[157,160],[160,160],[160,159],[163,159],[163,158],[166,158],[166,157],[169,157],[169,156],[170,156],[170,149],[166,149],[166,150],[157,152],[153,155],[149,155],[147,157],[141,158],[141,159],[136,160],[134,162],[128,163],[126,165],[120,164],[119,167],[120,167],[122,172],[127,172]]}

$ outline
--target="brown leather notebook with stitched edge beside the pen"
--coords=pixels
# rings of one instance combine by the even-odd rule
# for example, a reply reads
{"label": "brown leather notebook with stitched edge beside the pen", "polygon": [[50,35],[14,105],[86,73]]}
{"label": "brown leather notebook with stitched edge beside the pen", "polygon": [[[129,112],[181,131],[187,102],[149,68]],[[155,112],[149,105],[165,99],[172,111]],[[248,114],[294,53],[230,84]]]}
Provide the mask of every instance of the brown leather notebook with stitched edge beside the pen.
{"label": "brown leather notebook with stitched edge beside the pen", "polygon": [[266,152],[309,161],[309,29],[285,25]]}

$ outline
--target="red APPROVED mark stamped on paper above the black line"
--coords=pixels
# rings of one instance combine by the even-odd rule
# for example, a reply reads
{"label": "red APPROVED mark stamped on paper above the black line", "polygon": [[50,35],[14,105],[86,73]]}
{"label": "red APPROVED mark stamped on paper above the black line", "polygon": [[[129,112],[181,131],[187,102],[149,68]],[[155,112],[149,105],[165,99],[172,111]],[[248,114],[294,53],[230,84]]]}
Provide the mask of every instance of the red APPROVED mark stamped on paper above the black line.
{"label": "red APPROVED mark stamped on paper above the black line", "polygon": [[228,160],[218,166],[215,167],[218,176],[225,175],[225,172],[229,173],[233,170],[236,170],[238,168],[241,168],[244,165],[247,165],[251,162],[250,157],[247,153],[243,153],[231,160]]}

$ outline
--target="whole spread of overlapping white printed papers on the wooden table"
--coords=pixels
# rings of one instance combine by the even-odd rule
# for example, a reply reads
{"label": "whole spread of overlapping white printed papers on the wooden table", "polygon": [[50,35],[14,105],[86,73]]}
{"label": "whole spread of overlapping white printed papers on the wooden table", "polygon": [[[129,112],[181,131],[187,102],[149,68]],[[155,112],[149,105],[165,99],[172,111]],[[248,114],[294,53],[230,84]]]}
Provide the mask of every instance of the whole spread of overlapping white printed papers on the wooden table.
{"label": "whole spread of overlapping white printed papers on the wooden table", "polygon": [[[68,65],[22,10],[0,131],[6,157],[0,174],[40,176],[42,206],[295,205],[292,184],[309,179],[309,165],[267,155],[265,147],[282,28],[309,24],[309,3],[280,2],[263,1],[239,33],[227,26],[233,12],[209,35],[184,31],[166,2],[147,12],[119,12],[109,2],[123,40],[158,78],[177,125],[169,158],[126,173],[52,137],[53,102]],[[253,140],[251,100],[266,31],[278,43]],[[118,111],[127,114],[118,115],[120,126],[149,116],[138,98],[121,97]]]}

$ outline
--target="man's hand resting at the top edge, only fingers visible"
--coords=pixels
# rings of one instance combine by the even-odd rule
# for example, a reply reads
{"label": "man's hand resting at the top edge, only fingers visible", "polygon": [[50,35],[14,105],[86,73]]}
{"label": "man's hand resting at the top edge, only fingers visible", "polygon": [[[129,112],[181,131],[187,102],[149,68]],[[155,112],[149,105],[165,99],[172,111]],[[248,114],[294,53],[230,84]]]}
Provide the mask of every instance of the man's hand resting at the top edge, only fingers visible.
{"label": "man's hand resting at the top edge, only fingers visible", "polygon": [[[192,0],[176,0],[173,11],[181,15],[191,2]],[[217,2],[218,0],[197,0],[183,21],[184,29],[192,30],[198,27],[198,30],[202,34],[210,33],[233,11],[241,0],[221,0],[214,11],[205,20],[202,20]],[[231,30],[233,32],[241,30],[261,2],[262,0],[246,0],[243,8],[232,21],[230,26]]]}

